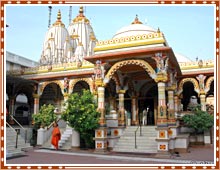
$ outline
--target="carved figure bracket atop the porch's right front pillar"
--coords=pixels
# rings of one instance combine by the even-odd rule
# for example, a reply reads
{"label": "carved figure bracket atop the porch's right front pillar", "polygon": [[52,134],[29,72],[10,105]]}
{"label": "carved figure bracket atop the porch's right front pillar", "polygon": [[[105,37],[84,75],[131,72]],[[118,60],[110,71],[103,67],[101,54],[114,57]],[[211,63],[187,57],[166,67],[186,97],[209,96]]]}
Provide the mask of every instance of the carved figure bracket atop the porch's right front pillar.
{"label": "carved figure bracket atop the porch's right front pillar", "polygon": [[152,58],[156,61],[157,73],[166,73],[168,69],[169,58],[162,53],[156,53]]}

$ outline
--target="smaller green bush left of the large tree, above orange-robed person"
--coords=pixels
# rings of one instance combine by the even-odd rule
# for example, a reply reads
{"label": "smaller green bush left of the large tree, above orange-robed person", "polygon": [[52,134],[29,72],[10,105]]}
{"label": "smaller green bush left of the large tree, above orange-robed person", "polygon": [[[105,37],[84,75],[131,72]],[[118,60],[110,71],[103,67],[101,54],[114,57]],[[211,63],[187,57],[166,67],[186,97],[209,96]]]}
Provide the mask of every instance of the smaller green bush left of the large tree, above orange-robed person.
{"label": "smaller green bush left of the large tree, above orange-robed person", "polygon": [[32,115],[34,121],[34,126],[36,129],[39,129],[40,126],[49,126],[53,121],[57,119],[57,116],[54,113],[55,107],[51,104],[43,105],[40,108],[38,114]]}

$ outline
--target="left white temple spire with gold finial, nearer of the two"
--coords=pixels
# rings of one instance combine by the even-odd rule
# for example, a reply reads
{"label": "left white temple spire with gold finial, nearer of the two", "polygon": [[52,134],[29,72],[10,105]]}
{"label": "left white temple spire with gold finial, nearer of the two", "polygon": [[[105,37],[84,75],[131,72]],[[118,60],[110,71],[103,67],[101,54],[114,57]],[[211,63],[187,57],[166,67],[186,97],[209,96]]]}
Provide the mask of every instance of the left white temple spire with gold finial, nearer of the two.
{"label": "left white temple spire with gold finial, nearer of the two", "polygon": [[48,65],[63,63],[70,60],[71,53],[68,51],[71,49],[71,45],[68,40],[69,33],[61,21],[61,12],[59,10],[56,22],[46,33],[40,63]]}

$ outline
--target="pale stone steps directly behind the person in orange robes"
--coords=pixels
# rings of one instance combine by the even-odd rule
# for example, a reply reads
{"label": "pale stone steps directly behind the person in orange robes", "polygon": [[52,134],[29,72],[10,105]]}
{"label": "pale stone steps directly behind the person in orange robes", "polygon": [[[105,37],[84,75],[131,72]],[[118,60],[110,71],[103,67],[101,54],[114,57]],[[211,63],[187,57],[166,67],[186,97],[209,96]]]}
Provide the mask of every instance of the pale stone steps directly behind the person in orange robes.
{"label": "pale stone steps directly behind the person in orange robes", "polygon": [[[71,149],[72,145],[72,128],[60,128],[61,138],[59,141],[59,149],[68,150]],[[54,149],[51,144],[51,137],[42,145],[43,148]]]}

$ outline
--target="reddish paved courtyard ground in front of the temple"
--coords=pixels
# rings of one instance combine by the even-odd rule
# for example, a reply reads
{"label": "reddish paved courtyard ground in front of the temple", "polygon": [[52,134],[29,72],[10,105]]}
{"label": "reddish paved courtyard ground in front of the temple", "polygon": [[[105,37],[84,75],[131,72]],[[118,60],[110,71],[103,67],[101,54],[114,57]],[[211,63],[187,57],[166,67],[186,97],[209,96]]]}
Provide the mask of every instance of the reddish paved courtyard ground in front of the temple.
{"label": "reddish paved courtyard ground in front of the temple", "polygon": [[24,156],[15,157],[6,160],[7,166],[24,165],[24,164],[52,164],[54,165],[85,165],[104,164],[104,165],[150,165],[150,164],[214,164],[214,147],[190,147],[189,153],[181,153],[179,156],[173,155],[170,158],[156,158],[155,155],[146,154],[119,154],[108,152],[106,154],[95,154],[92,151],[73,150],[73,151],[56,151],[49,149],[41,149],[35,147],[25,153]]}

